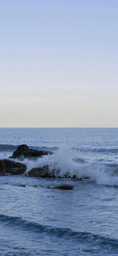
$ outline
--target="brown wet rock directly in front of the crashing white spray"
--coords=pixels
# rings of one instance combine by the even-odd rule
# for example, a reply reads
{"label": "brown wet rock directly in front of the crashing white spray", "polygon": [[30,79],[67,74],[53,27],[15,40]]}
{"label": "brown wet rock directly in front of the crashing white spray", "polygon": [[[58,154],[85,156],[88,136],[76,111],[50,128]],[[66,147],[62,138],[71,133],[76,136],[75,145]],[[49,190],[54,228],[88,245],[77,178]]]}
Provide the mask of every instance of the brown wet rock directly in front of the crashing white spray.
{"label": "brown wet rock directly in front of the crashing white spray", "polygon": [[26,173],[27,177],[41,177],[41,178],[52,178],[54,177],[52,174],[50,174],[46,168],[38,167],[38,168],[32,168],[30,172]]}

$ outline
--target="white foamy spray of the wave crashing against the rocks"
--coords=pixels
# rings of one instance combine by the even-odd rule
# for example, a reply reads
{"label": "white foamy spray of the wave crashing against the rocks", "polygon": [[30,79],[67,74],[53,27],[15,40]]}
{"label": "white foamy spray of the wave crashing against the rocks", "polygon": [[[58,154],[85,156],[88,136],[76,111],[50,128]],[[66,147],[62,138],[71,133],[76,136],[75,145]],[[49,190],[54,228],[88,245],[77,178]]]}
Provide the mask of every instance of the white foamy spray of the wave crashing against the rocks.
{"label": "white foamy spray of the wave crashing against the rocks", "polygon": [[59,176],[62,178],[66,173],[69,173],[70,177],[74,175],[77,178],[89,177],[90,181],[96,181],[99,185],[118,186],[118,176],[112,176],[113,168],[105,167],[99,163],[75,162],[73,159],[79,157],[78,154],[76,152],[75,155],[75,152],[70,147],[63,146],[56,154],[45,155],[42,158],[38,158],[37,161],[25,159],[23,163],[27,165],[27,171],[30,171],[32,168],[49,165],[50,172],[52,169],[55,169],[55,175],[57,175],[58,170]]}

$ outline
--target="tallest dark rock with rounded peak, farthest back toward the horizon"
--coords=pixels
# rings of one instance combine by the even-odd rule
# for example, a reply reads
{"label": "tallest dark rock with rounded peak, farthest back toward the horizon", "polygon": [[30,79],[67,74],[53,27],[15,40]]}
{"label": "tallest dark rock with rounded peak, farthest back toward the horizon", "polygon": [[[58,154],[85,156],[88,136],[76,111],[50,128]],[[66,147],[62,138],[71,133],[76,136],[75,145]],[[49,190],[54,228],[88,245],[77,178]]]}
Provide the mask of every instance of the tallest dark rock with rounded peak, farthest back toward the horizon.
{"label": "tallest dark rock with rounded peak, farthest back toward the horizon", "polygon": [[27,145],[19,145],[17,147],[17,150],[15,150],[9,158],[18,158],[18,159],[24,159],[24,158],[30,158],[30,157],[41,157],[43,155],[53,154],[53,152],[50,151],[42,151],[42,150],[34,150],[29,149]]}

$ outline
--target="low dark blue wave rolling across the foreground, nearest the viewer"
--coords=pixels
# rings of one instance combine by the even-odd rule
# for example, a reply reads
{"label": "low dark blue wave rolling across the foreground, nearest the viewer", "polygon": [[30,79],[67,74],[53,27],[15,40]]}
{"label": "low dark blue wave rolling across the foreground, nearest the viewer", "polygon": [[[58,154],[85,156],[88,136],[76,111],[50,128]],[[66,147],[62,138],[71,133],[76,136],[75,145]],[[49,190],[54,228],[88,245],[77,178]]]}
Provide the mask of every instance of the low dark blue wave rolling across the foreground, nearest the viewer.
{"label": "low dark blue wave rolling across the foreground, nearest the viewer", "polygon": [[35,223],[28,220],[23,220],[20,217],[13,217],[7,215],[0,215],[0,222],[3,222],[8,226],[18,226],[19,228],[25,229],[29,232],[38,232],[43,235],[52,235],[58,237],[65,237],[65,239],[74,239],[81,242],[91,242],[92,244],[99,244],[101,247],[109,245],[109,247],[118,248],[118,240],[109,238],[107,236],[101,236],[99,234],[93,234],[91,232],[86,231],[73,231],[70,228],[65,227],[54,227],[54,226],[46,226],[41,225],[39,223]]}

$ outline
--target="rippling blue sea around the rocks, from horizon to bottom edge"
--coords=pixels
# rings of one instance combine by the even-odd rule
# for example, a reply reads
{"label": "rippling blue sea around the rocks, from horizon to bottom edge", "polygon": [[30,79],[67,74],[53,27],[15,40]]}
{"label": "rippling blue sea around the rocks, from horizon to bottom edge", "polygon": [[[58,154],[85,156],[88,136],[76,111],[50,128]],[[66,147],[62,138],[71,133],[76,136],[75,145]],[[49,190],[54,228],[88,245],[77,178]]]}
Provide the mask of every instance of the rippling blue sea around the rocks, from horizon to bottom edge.
{"label": "rippling blue sea around the rocks, from horizon to bottom edge", "polygon": [[[118,128],[0,128],[0,159],[20,144],[54,152],[23,160],[27,171],[49,165],[62,178],[0,177],[0,255],[118,255]],[[74,189],[46,188],[63,184]]]}

